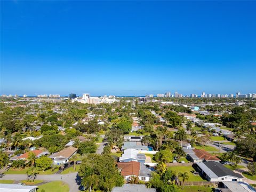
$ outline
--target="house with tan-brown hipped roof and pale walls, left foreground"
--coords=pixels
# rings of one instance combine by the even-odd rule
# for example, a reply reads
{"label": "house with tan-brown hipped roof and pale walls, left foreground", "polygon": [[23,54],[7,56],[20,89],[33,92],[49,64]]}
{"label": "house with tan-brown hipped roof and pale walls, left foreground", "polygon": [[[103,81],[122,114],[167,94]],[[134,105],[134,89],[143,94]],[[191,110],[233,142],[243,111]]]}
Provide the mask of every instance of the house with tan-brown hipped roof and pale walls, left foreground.
{"label": "house with tan-brown hipped roof and pale walls, left foreground", "polygon": [[52,158],[55,165],[66,164],[69,159],[75,155],[77,152],[77,148],[75,147],[67,147],[59,151],[58,153],[54,153],[49,157]]}

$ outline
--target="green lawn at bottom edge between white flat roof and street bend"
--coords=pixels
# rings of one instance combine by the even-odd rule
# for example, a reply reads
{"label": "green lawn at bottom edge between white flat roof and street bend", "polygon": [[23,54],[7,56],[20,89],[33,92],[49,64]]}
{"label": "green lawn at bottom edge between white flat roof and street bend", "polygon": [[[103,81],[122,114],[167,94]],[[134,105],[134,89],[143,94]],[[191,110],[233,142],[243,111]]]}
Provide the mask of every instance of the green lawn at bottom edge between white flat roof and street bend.
{"label": "green lawn at bottom edge between white flat roof and street bend", "polygon": [[38,192],[41,192],[41,190],[44,189],[45,192],[51,191],[51,192],[68,192],[69,187],[66,183],[61,181],[52,181],[49,183],[46,183],[44,185],[41,185],[38,187]]}

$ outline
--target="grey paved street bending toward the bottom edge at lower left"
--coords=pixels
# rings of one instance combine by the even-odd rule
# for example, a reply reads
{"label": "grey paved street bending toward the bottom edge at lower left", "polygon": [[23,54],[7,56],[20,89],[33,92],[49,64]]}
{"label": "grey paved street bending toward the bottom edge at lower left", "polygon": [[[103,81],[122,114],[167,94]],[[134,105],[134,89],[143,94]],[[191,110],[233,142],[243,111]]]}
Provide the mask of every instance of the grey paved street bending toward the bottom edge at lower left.
{"label": "grey paved street bending toward the bottom edge at lower left", "polygon": [[[15,181],[21,181],[26,180],[28,177],[26,174],[6,174],[3,175],[1,180],[15,180]],[[79,184],[80,184],[80,178],[77,175],[77,173],[69,173],[69,174],[51,174],[51,175],[37,175],[36,179],[38,180],[44,180],[44,181],[63,181],[66,182],[69,186],[69,191],[71,192],[77,192]]]}

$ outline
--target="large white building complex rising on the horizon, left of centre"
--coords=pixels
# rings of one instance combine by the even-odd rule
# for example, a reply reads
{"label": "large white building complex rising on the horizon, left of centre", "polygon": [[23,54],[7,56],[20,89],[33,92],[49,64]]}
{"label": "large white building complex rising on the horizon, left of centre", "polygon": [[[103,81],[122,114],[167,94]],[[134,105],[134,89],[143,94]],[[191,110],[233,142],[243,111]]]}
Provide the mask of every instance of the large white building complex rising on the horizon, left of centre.
{"label": "large white building complex rising on the horizon, left of centre", "polygon": [[82,97],[71,98],[71,102],[75,101],[90,104],[119,102],[119,100],[117,100],[114,95],[105,95],[103,97],[90,97],[89,93],[84,93]]}

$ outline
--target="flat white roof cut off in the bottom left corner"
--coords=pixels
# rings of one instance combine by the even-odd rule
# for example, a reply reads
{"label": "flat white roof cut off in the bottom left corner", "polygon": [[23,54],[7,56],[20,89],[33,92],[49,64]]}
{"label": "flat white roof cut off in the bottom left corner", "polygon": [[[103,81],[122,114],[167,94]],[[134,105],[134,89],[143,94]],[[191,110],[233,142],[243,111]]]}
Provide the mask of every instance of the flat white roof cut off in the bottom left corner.
{"label": "flat white roof cut off in the bottom left corner", "polygon": [[37,186],[23,186],[19,184],[0,184],[1,192],[29,192]]}

